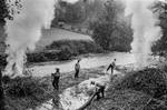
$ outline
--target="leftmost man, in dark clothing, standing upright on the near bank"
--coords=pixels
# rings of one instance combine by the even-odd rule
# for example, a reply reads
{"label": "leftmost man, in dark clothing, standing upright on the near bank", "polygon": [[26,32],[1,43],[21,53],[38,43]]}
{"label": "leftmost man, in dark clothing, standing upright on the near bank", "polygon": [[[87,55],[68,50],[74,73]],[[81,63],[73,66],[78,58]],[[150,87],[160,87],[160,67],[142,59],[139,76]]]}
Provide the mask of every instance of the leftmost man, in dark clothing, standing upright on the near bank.
{"label": "leftmost man, in dark clothing, standing upright on the near bank", "polygon": [[60,78],[59,68],[56,68],[56,73],[51,73],[51,77],[53,79],[52,87],[59,90],[59,78]]}

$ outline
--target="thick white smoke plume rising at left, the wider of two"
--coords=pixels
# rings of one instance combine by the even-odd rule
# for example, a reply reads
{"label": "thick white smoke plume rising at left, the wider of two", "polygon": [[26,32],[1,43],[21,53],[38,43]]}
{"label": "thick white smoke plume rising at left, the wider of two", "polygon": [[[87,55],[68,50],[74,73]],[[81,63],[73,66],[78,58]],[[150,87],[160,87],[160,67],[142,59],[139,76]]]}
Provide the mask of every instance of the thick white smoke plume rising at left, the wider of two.
{"label": "thick white smoke plume rising at left, the wider of two", "polygon": [[[21,76],[27,50],[35,50],[41,30],[49,29],[55,18],[56,0],[7,0],[11,19],[6,19],[6,74]],[[14,68],[14,69],[13,69]],[[17,71],[14,71],[17,70]],[[13,74],[14,73],[14,74]]]}

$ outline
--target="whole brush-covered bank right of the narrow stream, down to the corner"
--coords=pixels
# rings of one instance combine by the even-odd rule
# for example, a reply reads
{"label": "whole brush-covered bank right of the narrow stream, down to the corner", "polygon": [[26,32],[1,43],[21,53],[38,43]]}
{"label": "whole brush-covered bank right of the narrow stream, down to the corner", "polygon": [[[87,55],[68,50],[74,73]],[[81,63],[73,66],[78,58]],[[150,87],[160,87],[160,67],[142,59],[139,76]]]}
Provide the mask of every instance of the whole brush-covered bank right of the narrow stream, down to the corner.
{"label": "whole brush-covered bank right of the narrow stream, down to the corner", "polygon": [[[167,110],[167,73],[145,68],[116,78],[106,98],[94,101],[88,110]],[[117,80],[117,81],[116,81]]]}

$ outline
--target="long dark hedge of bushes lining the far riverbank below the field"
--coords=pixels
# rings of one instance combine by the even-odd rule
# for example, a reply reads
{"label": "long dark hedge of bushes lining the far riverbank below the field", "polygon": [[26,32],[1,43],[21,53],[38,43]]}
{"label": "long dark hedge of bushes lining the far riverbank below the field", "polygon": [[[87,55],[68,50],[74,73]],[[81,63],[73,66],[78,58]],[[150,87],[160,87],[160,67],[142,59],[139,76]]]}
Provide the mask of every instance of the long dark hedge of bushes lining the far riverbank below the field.
{"label": "long dark hedge of bushes lining the far riverbank below the field", "polygon": [[53,41],[41,52],[27,53],[28,62],[43,62],[56,60],[68,60],[84,53],[98,53],[102,49],[94,41],[84,40],[60,40]]}

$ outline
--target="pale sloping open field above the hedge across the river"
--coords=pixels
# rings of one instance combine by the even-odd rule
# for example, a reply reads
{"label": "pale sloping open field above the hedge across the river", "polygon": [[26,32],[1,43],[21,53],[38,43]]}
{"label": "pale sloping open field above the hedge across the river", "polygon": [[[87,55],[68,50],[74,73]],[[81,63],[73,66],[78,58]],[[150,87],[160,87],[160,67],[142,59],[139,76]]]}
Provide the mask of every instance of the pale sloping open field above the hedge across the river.
{"label": "pale sloping open field above the hedge across the river", "polygon": [[[4,29],[2,26],[0,26],[0,42],[4,41]],[[57,28],[51,28],[50,30],[43,30],[42,37],[40,41],[37,43],[36,51],[39,51],[42,49],[42,47],[50,44],[52,41],[56,40],[62,40],[62,39],[70,39],[70,40],[91,40],[89,36],[80,34],[67,30],[61,30]],[[2,43],[0,43],[0,53],[4,52],[4,47]]]}

